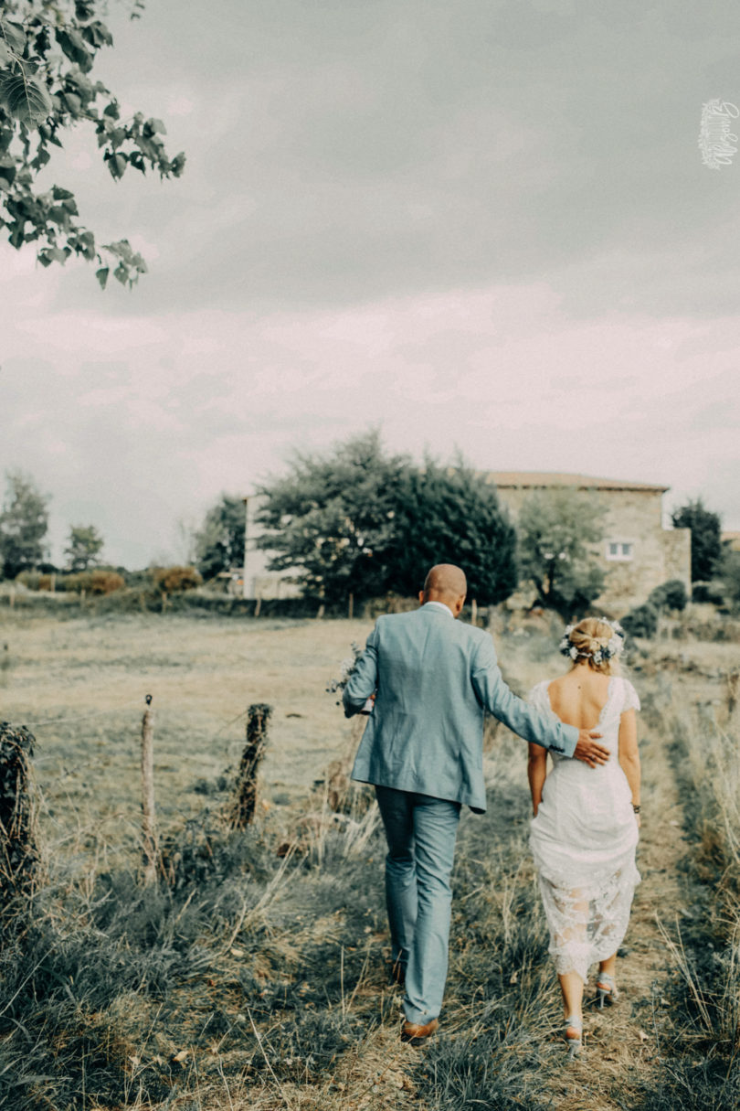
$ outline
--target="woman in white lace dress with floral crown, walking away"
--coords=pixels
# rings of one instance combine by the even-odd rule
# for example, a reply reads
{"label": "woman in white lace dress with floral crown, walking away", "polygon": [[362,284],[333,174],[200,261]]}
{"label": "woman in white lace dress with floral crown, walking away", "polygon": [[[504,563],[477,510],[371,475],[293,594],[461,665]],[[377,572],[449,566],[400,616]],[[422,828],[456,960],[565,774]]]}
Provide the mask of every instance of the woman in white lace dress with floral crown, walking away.
{"label": "woman in white lace dress with floral crown, walking away", "polygon": [[[598,961],[597,1001],[617,998],[617,950],[640,882],[635,850],[640,822],[640,761],[635,711],[640,703],[617,657],[624,633],[606,618],[566,629],[560,650],[572,661],[560,679],[538,683],[529,698],[560,721],[598,729],[611,757],[590,768],[529,745],[535,817],[530,845],[560,981],[569,1055],[580,1052],[584,985]],[[547,777],[547,778],[546,778]]]}

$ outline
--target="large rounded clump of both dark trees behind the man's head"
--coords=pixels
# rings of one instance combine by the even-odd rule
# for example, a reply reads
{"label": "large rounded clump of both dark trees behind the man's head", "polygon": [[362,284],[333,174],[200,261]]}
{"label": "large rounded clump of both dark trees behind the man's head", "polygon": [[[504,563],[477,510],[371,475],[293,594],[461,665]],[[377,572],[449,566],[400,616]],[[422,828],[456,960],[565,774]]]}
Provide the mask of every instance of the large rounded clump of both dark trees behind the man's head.
{"label": "large rounded clump of both dark trees behind the man's head", "polygon": [[495,490],[464,466],[386,454],[365,432],[323,454],[298,453],[262,487],[262,547],[305,594],[343,604],[388,592],[416,594],[433,563],[458,563],[480,603],[516,584],[515,533]]}

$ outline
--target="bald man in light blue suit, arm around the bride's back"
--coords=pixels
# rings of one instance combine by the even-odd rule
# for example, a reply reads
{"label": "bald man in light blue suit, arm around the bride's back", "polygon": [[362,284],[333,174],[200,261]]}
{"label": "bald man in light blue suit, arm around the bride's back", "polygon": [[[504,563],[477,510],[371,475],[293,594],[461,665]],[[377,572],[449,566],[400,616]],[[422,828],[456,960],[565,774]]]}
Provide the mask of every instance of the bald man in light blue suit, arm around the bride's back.
{"label": "bald man in light blue suit, arm around the bride's back", "polygon": [[486,711],[553,752],[591,767],[609,758],[599,733],[564,725],[509,690],[490,635],[455,620],[466,592],[460,568],[433,567],[419,610],[378,618],[343,695],[347,717],[375,695],[352,778],[375,784],[385,827],[394,978],[405,984],[402,1038],[414,1044],[438,1025],[460,808],[486,809]]}

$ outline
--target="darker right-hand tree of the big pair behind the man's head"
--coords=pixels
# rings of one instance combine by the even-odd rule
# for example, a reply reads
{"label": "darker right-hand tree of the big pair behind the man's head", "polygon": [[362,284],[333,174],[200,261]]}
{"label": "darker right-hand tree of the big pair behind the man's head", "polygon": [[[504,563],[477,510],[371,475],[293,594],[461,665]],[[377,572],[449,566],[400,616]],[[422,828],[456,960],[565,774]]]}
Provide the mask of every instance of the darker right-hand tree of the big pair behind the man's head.
{"label": "darker right-hand tree of the big pair behind the man's head", "polygon": [[403,477],[387,562],[388,587],[401,594],[416,594],[435,563],[457,563],[468,598],[495,604],[517,584],[516,531],[495,487],[462,459],[454,467],[427,459]]}

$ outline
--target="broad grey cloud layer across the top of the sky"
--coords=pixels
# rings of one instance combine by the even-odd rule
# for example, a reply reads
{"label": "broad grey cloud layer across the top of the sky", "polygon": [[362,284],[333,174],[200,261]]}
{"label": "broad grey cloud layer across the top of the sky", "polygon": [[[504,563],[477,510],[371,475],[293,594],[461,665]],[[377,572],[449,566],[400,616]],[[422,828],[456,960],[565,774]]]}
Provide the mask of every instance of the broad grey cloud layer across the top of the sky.
{"label": "broad grey cloud layer across the top of the sky", "polygon": [[166,42],[163,78],[192,84],[199,129],[176,121],[182,189],[126,193],[161,244],[138,307],[543,276],[578,314],[729,302],[740,167],[701,166],[697,139],[703,101],[740,97],[736,4],[231,0],[219,16],[204,29],[192,4],[152,4],[141,23],[144,52]]}

